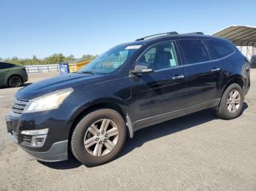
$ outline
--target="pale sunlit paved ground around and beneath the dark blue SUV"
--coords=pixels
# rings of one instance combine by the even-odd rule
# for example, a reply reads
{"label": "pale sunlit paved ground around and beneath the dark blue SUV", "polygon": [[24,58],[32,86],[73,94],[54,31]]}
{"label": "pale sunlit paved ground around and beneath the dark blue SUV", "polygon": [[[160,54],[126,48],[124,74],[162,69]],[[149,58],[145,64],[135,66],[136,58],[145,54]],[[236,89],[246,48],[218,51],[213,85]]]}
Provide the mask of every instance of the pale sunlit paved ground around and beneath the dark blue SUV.
{"label": "pale sunlit paved ground around and beneath the dark blue SUV", "polygon": [[[29,83],[58,75],[31,74]],[[206,110],[135,133],[118,159],[86,168],[42,163],[16,146],[4,116],[18,88],[0,89],[0,190],[256,190],[256,69],[241,117]]]}

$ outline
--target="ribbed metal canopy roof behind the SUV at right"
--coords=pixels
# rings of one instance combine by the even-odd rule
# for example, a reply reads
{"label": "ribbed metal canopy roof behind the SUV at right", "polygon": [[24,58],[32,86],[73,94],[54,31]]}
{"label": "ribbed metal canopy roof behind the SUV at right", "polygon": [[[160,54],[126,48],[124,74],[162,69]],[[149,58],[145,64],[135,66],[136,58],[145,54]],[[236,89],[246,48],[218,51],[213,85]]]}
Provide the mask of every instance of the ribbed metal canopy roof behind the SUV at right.
{"label": "ribbed metal canopy roof behind the SUV at right", "polygon": [[229,26],[213,34],[213,36],[228,39],[236,46],[256,46],[255,26]]}

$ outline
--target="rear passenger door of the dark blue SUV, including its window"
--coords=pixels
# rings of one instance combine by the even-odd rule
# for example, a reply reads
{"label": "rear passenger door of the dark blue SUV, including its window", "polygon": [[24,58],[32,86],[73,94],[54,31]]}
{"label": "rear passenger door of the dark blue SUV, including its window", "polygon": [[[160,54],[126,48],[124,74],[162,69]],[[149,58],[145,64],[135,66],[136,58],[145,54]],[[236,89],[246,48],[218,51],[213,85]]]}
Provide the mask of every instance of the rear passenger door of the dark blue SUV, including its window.
{"label": "rear passenger door of the dark blue SUV, including its window", "polygon": [[212,104],[219,98],[222,71],[219,61],[211,60],[200,39],[178,41],[187,72],[187,106]]}

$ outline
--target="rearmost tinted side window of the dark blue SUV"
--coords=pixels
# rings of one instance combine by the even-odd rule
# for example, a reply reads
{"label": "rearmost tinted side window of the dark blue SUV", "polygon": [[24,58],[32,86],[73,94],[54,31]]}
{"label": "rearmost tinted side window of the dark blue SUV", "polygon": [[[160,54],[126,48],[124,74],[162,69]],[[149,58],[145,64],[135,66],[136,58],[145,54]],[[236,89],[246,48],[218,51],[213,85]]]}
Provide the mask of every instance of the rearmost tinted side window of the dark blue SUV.
{"label": "rearmost tinted side window of the dark blue SUV", "polygon": [[235,49],[228,42],[206,40],[205,43],[212,59],[223,58],[235,52]]}

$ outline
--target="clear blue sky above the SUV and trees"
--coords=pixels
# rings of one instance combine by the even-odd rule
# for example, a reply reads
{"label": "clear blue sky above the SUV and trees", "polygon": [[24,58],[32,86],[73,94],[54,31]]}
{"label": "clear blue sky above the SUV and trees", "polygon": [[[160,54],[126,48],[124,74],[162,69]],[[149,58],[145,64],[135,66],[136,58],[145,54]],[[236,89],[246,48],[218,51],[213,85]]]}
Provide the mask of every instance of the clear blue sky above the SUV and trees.
{"label": "clear blue sky above the SUV and trees", "polygon": [[255,0],[0,0],[0,58],[101,54],[167,31],[256,26]]}

